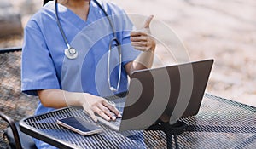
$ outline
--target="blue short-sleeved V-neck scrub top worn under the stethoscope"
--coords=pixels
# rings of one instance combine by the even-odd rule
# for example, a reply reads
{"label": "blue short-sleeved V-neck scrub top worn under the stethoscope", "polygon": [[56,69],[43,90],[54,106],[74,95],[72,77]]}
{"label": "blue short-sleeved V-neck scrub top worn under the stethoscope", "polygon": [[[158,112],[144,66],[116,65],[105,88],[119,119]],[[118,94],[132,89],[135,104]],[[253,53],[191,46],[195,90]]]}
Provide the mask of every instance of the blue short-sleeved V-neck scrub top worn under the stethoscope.
{"label": "blue short-sleeved V-neck scrub top worn under the stethoscope", "polygon": [[[135,60],[139,51],[131,46],[130,32],[134,26],[125,14],[113,3],[100,2],[117,31],[122,44],[122,75],[119,92],[127,90],[128,80],[125,64]],[[49,2],[29,20],[25,28],[21,66],[21,90],[28,95],[37,95],[38,89],[65,89],[107,96],[108,44],[113,38],[111,26],[94,1],[86,21],[70,9],[58,4],[58,15],[68,42],[78,50],[79,58],[68,60],[64,54],[67,45],[55,20],[55,3]],[[112,49],[111,84],[118,83],[118,52]],[[78,81],[79,80],[79,81]],[[78,88],[81,86],[81,89]],[[53,99],[54,100],[54,99]],[[40,102],[36,114],[52,111]]]}

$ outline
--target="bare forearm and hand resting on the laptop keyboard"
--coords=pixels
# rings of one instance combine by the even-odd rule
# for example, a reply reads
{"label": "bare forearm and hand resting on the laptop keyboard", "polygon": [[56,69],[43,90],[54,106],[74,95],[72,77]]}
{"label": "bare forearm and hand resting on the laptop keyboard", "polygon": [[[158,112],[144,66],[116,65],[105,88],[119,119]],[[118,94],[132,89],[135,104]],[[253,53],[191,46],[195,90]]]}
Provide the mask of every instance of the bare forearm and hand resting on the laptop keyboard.
{"label": "bare forearm and hand resting on the laptop keyboard", "polygon": [[61,108],[65,106],[82,106],[90,117],[97,121],[95,112],[106,120],[115,120],[115,113],[121,117],[119,111],[102,97],[88,93],[68,92],[61,89],[38,90],[38,97],[45,107]]}

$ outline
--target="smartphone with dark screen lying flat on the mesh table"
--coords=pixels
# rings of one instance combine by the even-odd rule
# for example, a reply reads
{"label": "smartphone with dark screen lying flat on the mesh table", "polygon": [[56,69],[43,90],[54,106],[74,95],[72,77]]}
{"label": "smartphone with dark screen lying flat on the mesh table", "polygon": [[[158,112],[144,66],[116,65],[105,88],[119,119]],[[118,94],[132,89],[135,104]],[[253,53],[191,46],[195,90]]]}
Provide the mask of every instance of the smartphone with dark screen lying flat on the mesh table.
{"label": "smartphone with dark screen lying flat on the mesh table", "polygon": [[93,135],[103,131],[102,127],[95,123],[90,123],[80,117],[66,117],[58,119],[57,123],[66,129],[70,129],[80,135]]}

